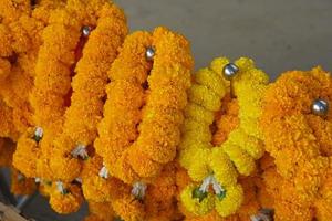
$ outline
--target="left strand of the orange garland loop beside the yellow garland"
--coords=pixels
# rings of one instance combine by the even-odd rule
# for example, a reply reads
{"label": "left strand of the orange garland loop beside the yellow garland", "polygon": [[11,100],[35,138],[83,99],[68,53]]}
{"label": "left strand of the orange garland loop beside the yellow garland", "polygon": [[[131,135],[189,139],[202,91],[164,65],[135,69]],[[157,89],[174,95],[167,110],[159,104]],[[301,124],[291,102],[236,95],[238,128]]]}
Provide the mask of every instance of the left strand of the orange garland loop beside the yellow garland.
{"label": "left strand of the orange garland loop beside the yellow garland", "polygon": [[120,171],[115,165],[131,140],[137,137],[136,125],[141,122],[139,108],[144,104],[144,90],[141,85],[146,81],[151,69],[145,59],[145,50],[151,42],[146,32],[128,35],[110,71],[111,84],[106,92],[112,98],[105,103],[104,118],[98,125],[98,137],[94,144],[113,176],[126,172],[128,177],[136,177],[131,170]]}

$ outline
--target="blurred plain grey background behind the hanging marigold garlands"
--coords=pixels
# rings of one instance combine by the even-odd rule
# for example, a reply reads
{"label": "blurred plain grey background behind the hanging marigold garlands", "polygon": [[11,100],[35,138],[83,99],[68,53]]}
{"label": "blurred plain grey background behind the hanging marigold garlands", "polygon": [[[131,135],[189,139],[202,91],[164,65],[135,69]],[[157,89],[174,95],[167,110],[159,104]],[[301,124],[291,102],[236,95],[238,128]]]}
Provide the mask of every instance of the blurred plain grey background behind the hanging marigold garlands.
{"label": "blurred plain grey background behind the hanging marigold garlands", "polygon": [[[288,70],[332,71],[332,0],[115,0],[132,31],[166,25],[186,35],[196,69],[219,55],[252,57],[276,78]],[[0,196],[1,197],[1,196]],[[38,221],[82,220],[86,206],[58,215],[35,196],[24,208]]]}

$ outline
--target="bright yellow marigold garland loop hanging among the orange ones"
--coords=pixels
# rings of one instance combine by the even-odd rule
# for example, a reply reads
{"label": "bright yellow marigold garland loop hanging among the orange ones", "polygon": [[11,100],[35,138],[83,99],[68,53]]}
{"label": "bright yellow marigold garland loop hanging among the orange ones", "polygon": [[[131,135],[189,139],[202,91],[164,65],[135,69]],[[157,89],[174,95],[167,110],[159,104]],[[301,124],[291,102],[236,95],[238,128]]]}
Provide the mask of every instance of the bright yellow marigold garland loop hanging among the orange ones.
{"label": "bright yellow marigold garland loop hanging among the orange ones", "polygon": [[[194,197],[197,186],[188,186],[181,193],[185,207],[196,215],[216,210],[221,217],[236,212],[242,201],[242,189],[237,185],[237,170],[248,176],[255,170],[255,160],[263,154],[261,131],[257,122],[261,114],[261,97],[268,84],[267,75],[257,70],[249,59],[239,59],[239,73],[232,80],[235,96],[239,103],[240,125],[234,129],[220,147],[212,148],[210,125],[214,112],[219,110],[221,98],[230,90],[222,77],[228,60],[216,59],[210,69],[203,69],[195,75],[189,91],[189,104],[183,127],[180,164],[188,169],[194,181],[205,182],[212,176],[214,185],[219,185],[226,194]],[[248,93],[250,91],[250,93]],[[222,116],[221,116],[222,117]],[[236,166],[236,168],[234,167]],[[199,190],[203,191],[203,190]]]}

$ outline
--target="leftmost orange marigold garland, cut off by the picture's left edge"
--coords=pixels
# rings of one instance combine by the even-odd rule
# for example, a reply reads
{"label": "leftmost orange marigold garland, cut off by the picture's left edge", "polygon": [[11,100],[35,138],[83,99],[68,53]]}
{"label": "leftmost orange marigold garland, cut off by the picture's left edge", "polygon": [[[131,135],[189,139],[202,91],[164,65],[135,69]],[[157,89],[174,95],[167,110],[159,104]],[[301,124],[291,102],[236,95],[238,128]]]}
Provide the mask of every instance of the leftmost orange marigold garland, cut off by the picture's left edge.
{"label": "leftmost orange marigold garland, cut off by the picture's left edge", "polygon": [[[1,54],[7,57],[7,64],[1,72],[8,75],[0,81],[0,94],[2,94],[3,101],[13,108],[14,125],[20,133],[32,125],[32,109],[28,96],[33,86],[34,66],[39,46],[41,45],[41,32],[48,23],[48,21],[40,20],[39,17],[41,14],[46,17],[49,11],[60,7],[59,1],[51,2],[50,0],[42,0],[34,9],[29,8],[27,12],[22,13],[19,12],[19,4],[9,3],[9,1],[3,2],[6,4],[3,7],[8,8],[9,11],[18,10],[15,11],[18,18],[11,20],[8,24],[6,22],[1,24],[3,29],[8,29],[10,34],[0,36],[4,41],[1,41],[1,44],[6,51]],[[28,6],[30,7],[30,3]],[[11,7],[12,9],[10,9]],[[39,8],[43,8],[43,12],[34,13],[35,11],[41,11]],[[3,32],[0,31],[0,35],[1,33]],[[6,50],[6,46],[11,49]]]}

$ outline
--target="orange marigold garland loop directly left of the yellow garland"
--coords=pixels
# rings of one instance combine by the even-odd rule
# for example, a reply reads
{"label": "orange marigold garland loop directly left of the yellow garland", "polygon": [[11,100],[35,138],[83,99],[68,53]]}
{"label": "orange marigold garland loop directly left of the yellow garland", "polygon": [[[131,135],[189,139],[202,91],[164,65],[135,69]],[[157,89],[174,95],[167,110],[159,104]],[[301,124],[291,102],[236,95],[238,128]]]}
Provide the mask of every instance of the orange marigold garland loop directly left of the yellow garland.
{"label": "orange marigold garland loop directly left of the yellow garland", "polygon": [[[151,64],[145,53],[149,46],[156,54],[147,76]],[[162,166],[173,160],[191,69],[188,42],[165,28],[157,28],[152,35],[136,32],[125,40],[110,71],[113,81],[95,141],[111,175],[133,183],[156,177]]]}

